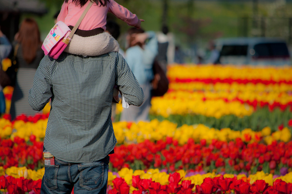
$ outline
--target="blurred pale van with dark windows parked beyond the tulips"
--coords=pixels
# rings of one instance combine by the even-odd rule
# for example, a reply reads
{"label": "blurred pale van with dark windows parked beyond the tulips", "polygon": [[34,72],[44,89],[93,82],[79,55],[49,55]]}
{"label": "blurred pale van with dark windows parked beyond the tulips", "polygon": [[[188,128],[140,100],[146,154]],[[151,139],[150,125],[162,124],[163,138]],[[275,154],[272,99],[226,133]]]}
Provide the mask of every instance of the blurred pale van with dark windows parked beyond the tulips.
{"label": "blurred pale van with dark windows parked beyond the tulips", "polygon": [[222,38],[215,45],[221,64],[291,65],[287,44],[279,38]]}

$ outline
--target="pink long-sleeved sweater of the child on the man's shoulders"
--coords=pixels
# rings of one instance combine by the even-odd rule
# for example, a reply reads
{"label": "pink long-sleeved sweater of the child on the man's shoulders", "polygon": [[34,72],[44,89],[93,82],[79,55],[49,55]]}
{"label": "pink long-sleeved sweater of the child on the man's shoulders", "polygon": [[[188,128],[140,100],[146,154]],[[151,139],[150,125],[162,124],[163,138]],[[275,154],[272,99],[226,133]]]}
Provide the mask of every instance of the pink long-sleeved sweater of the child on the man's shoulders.
{"label": "pink long-sleeved sweater of the child on the man's shoulders", "polygon": [[[64,22],[68,26],[75,26],[88,4],[89,0],[82,7],[76,6],[72,3],[72,0],[69,0],[68,3],[64,2],[57,20]],[[131,13],[127,8],[117,4],[114,0],[109,0],[107,6],[100,6],[100,4],[96,5],[94,3],[86,13],[78,29],[93,30],[100,27],[105,30],[107,12],[114,14],[130,26],[135,26],[138,23],[136,14]]]}

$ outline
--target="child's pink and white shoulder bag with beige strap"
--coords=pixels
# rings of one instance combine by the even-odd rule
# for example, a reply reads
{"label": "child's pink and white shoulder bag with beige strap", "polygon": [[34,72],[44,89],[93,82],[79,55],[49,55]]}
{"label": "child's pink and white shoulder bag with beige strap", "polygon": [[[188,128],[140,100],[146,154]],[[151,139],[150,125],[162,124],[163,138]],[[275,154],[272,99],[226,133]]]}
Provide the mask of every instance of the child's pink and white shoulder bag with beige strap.
{"label": "child's pink and white shoulder bag with beige strap", "polygon": [[52,57],[54,59],[58,59],[60,54],[64,51],[66,46],[69,44],[73,34],[76,32],[79,27],[81,21],[86,15],[89,8],[92,6],[93,2],[89,1],[88,6],[85,8],[84,12],[80,16],[76,25],[70,30],[70,28],[62,21],[58,21],[56,25],[51,29],[48,36],[43,42],[41,48],[44,50],[45,55]]}

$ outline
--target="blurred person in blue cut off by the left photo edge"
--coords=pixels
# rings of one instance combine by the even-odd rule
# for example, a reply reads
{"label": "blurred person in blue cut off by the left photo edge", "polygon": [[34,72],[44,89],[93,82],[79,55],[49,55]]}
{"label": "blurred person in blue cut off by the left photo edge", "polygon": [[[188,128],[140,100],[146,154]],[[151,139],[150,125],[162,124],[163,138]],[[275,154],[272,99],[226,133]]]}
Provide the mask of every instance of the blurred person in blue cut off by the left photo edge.
{"label": "blurred person in blue cut off by the left photo edge", "polygon": [[[1,28],[0,28],[0,68],[1,68],[0,75],[1,75],[1,78],[4,78],[4,75],[2,75],[2,72],[3,72],[2,60],[8,57],[11,50],[12,50],[12,45],[10,44],[7,37],[2,33]],[[5,109],[6,109],[5,98],[4,98],[4,94],[2,90],[3,90],[3,87],[0,84],[0,115],[2,113],[5,113]]]}

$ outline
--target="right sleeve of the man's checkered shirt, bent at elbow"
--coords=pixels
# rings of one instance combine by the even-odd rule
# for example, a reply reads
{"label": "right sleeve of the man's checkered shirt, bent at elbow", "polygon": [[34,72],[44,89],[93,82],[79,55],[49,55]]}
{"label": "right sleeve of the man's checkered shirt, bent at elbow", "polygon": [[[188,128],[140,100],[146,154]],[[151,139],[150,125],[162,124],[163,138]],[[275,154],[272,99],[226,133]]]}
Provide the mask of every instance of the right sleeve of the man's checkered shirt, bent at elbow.
{"label": "right sleeve of the man's checkered shirt, bent at elbow", "polygon": [[115,85],[119,86],[122,98],[129,104],[140,106],[144,101],[144,93],[126,60],[117,53]]}

